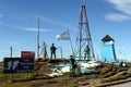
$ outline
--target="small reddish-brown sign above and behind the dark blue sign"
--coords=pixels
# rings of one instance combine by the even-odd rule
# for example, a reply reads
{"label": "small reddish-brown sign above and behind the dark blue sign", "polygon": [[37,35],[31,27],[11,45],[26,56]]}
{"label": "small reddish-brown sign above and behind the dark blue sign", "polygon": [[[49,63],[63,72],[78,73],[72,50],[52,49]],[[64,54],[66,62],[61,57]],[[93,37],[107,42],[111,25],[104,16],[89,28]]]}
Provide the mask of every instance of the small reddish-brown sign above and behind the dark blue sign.
{"label": "small reddish-brown sign above and behind the dark blue sign", "polygon": [[22,59],[35,59],[35,52],[33,51],[21,51],[21,58]]}

